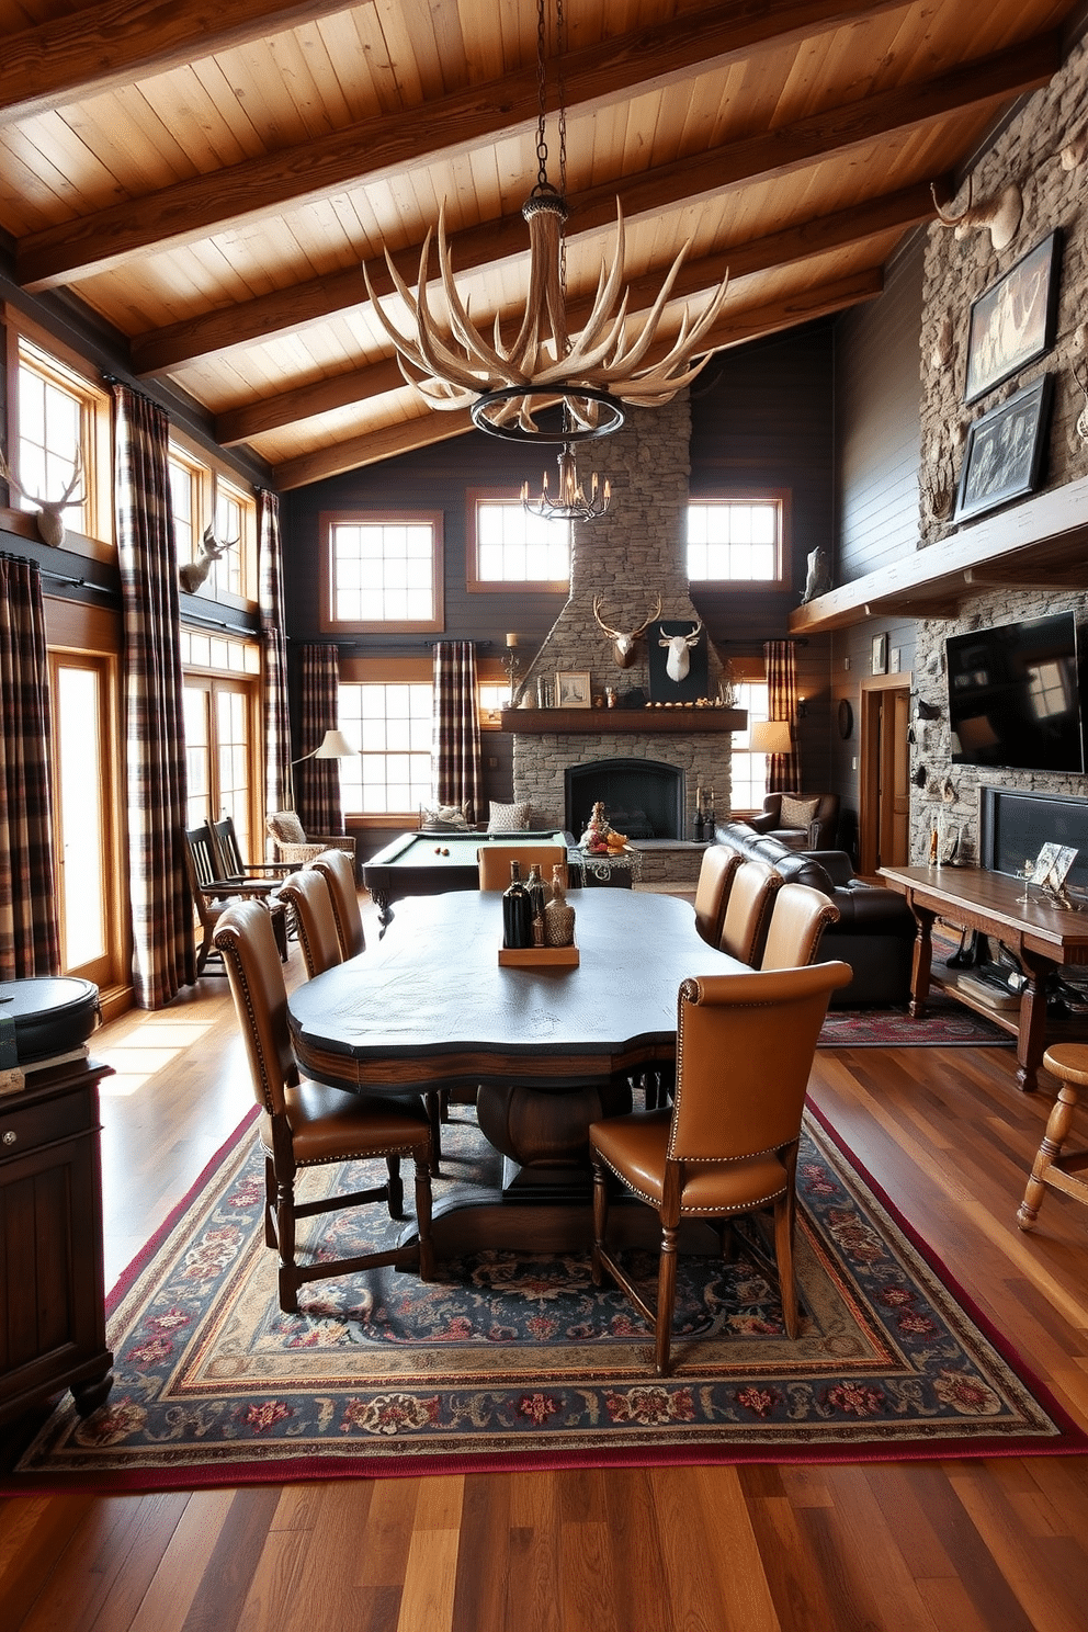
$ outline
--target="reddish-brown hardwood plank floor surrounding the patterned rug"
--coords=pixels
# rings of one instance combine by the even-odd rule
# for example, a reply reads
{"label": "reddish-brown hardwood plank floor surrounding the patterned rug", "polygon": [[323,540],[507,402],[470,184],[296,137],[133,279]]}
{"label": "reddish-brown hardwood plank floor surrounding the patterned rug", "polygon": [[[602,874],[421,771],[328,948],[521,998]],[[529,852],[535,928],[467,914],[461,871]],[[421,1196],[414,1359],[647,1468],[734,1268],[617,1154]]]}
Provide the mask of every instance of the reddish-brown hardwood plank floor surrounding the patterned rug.
{"label": "reddish-brown hardwood plank floor surrounding the patterned rug", "polygon": [[[292,951],[290,978],[300,963]],[[113,1278],[250,1105],[222,979],[96,1038]],[[812,1097],[1088,1421],[1088,1209],[1015,1213],[1055,1084],[820,1053]],[[1075,1129],[1088,1142],[1088,1116]],[[1080,1632],[1088,1461],[584,1469],[0,1503],[10,1632]]]}

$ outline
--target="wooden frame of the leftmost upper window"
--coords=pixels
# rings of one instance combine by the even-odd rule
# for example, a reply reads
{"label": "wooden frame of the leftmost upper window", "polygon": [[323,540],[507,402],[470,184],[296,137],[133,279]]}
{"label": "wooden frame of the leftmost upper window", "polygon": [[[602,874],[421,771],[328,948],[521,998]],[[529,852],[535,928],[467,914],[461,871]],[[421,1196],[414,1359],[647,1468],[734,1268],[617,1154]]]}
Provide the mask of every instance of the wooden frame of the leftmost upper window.
{"label": "wooden frame of the leftmost upper window", "polygon": [[[70,527],[65,512],[62,548],[90,560],[113,561],[117,550],[113,517],[111,395],[78,353],[54,339],[36,323],[28,322],[10,305],[0,305],[0,317],[5,325],[7,457],[11,472],[20,480],[20,370],[28,366],[60,390],[69,392],[80,405],[82,481],[86,493],[85,519],[90,532]],[[8,532],[41,542],[34,511],[23,509],[15,491],[8,493],[8,504],[0,506],[0,519]]]}

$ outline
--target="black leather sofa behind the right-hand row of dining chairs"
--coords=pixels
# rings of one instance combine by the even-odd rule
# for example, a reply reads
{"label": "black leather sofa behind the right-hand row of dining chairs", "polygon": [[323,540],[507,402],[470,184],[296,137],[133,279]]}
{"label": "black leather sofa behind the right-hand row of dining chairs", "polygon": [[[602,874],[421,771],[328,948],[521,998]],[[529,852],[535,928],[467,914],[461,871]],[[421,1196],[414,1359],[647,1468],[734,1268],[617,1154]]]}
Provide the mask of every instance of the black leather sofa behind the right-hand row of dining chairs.
{"label": "black leather sofa behind the right-hand row of dining chairs", "polygon": [[719,823],[714,839],[745,860],[770,862],[786,883],[811,885],[835,902],[838,922],[824,930],[819,961],[842,958],[853,979],[832,994],[832,1007],[896,1009],[909,1002],[917,925],[896,889],[856,878],[845,850],[793,850],[750,823]]}

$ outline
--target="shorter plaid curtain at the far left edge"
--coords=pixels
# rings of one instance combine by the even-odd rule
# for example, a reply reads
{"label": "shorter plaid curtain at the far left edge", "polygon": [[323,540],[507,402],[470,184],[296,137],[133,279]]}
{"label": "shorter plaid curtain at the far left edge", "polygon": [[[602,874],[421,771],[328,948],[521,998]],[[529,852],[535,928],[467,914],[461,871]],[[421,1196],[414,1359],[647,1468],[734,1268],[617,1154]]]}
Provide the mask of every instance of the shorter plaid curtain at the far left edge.
{"label": "shorter plaid curtain at the far left edge", "polygon": [[0,555],[0,979],[60,973],[46,615],[36,561]]}

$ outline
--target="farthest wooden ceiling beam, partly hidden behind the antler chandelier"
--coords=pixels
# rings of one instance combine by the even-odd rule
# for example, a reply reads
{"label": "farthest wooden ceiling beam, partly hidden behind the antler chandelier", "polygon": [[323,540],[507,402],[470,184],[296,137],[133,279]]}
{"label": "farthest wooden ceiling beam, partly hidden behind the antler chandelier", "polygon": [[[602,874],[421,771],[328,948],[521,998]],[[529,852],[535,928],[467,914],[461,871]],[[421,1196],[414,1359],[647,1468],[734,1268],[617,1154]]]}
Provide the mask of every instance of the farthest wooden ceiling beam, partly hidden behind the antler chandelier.
{"label": "farthest wooden ceiling beam, partly hidden behind the antler chandelier", "polygon": [[[850,277],[837,279],[835,282],[803,289],[781,300],[734,312],[714,325],[708,349],[723,351],[728,346],[739,346],[747,339],[759,339],[762,335],[775,335],[783,328],[794,328],[798,323],[807,323],[817,317],[845,312],[847,307],[858,305],[861,300],[874,300],[882,289],[884,276],[881,269],[871,268],[855,273]],[[403,379],[400,384],[403,387]],[[467,411],[424,413],[416,419],[408,419],[388,429],[347,437],[343,442],[316,449],[313,454],[302,454],[299,459],[285,460],[276,467],[276,486],[284,493],[289,488],[302,488],[312,481],[325,481],[329,477],[343,475],[346,470],[375,465],[382,459],[393,459],[396,454],[408,454],[418,447],[429,447],[434,442],[445,442],[452,436],[462,436],[471,429],[473,423]]]}

